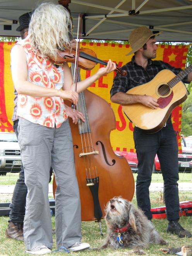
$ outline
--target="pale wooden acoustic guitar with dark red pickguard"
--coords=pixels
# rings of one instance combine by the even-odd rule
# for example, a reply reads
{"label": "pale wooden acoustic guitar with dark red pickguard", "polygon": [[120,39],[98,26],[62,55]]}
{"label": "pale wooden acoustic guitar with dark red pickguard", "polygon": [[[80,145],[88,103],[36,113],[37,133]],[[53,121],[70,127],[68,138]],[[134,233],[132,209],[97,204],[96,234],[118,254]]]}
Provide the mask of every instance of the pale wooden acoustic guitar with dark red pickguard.
{"label": "pale wooden acoustic guitar with dark red pickguard", "polygon": [[165,125],[173,108],[187,99],[187,89],[181,80],[191,71],[192,64],[177,76],[172,71],[164,69],[150,82],[128,90],[128,94],[146,94],[156,98],[159,107],[153,110],[141,103],[123,105],[125,115],[146,133],[159,131]]}

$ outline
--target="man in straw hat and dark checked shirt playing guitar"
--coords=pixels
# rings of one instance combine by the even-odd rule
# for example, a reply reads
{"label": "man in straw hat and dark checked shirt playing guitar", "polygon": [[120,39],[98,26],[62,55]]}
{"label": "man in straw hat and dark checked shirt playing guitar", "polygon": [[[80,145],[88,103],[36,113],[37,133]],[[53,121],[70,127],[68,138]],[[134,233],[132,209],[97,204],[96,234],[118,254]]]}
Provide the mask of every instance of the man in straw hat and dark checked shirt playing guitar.
{"label": "man in straw hat and dark checked shirt playing guitar", "polygon": [[[111,101],[121,105],[141,103],[153,109],[158,109],[158,100],[150,95],[127,94],[126,92],[146,82],[163,69],[169,69],[178,74],[181,69],[172,67],[162,62],[151,60],[156,57],[155,36],[147,27],[138,27],[130,33],[129,42],[134,53],[132,60],[124,65],[122,69],[127,70],[127,76],[117,75],[111,88]],[[192,80],[192,72],[184,82]],[[129,106],[128,106],[129,107]],[[149,220],[152,219],[151,203],[149,198],[149,186],[155,155],[158,155],[163,174],[165,188],[165,204],[167,210],[168,227],[167,232],[175,233],[179,237],[191,237],[192,234],[183,229],[179,224],[179,196],[178,196],[178,145],[171,123],[168,118],[166,125],[153,134],[147,134],[144,130],[134,127],[134,142],[138,158],[138,172],[136,182],[137,204],[144,211]]]}

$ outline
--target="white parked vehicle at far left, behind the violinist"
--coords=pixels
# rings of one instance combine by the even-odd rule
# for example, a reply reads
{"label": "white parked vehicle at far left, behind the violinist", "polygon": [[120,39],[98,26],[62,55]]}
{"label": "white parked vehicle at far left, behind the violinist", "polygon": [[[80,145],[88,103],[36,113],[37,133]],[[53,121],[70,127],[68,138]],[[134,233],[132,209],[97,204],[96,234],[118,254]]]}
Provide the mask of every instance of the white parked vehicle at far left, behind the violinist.
{"label": "white parked vehicle at far left, behind the violinist", "polygon": [[0,175],[20,170],[21,155],[15,133],[0,132]]}

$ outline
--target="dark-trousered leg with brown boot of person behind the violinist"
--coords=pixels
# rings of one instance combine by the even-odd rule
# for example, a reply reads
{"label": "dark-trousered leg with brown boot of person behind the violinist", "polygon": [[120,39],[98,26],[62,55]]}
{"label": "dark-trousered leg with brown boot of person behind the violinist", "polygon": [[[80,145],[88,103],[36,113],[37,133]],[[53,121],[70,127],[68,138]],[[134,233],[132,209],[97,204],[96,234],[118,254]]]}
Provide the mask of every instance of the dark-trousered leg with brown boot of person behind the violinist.
{"label": "dark-trousered leg with brown boot of person behind the violinist", "polygon": [[[19,120],[14,121],[13,129],[18,139],[18,126]],[[12,203],[10,203],[9,226],[5,234],[13,239],[24,241],[23,237],[23,222],[25,215],[27,187],[24,182],[24,168],[21,165],[19,179],[17,180],[12,196]]]}

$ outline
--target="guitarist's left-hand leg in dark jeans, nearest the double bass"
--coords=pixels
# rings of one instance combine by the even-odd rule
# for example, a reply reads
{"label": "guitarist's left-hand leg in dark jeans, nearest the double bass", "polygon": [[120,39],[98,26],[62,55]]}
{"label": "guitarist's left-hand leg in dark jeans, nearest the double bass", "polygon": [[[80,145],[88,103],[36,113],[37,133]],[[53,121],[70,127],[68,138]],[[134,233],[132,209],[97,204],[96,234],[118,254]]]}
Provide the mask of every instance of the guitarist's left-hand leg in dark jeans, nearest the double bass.
{"label": "guitarist's left-hand leg in dark jeans, nearest the double bass", "polygon": [[138,172],[136,181],[137,205],[147,218],[151,220],[151,203],[149,186],[153,172],[154,158],[159,149],[158,133],[145,134],[141,129],[134,128],[134,142],[138,159]]}

